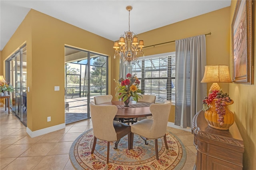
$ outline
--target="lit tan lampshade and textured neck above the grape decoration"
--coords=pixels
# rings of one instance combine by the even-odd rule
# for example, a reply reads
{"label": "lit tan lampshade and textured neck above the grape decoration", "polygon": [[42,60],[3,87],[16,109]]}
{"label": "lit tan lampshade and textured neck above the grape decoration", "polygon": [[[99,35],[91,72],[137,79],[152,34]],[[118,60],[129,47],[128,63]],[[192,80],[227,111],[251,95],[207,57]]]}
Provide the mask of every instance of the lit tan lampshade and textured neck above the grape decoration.
{"label": "lit tan lampshade and textured neck above the grape decoration", "polygon": [[220,90],[218,83],[232,83],[228,65],[206,65],[201,83],[212,83],[209,92]]}

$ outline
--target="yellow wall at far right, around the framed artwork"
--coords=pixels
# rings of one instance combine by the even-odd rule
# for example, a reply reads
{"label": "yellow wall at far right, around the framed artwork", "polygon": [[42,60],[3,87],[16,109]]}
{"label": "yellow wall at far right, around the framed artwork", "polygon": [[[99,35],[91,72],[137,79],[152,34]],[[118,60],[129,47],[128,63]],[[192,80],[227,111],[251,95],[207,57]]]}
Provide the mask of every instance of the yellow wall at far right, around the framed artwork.
{"label": "yellow wall at far right, around the framed artwork", "polygon": [[[231,2],[230,28],[234,15],[236,1]],[[255,6],[253,5],[255,10]],[[255,19],[255,13],[253,18]],[[255,24],[253,25],[255,33]],[[253,35],[253,40],[256,36]],[[230,38],[231,42],[231,38]],[[254,41],[255,42],[255,41]],[[231,44],[231,43],[230,43]],[[256,50],[256,45],[252,47]],[[232,47],[230,45],[230,66],[232,66]],[[253,53],[253,65],[256,66],[255,52]],[[232,70],[232,67],[230,67]],[[230,83],[229,94],[234,100],[234,104],[229,108],[235,114],[235,121],[244,140],[243,164],[244,170],[256,170],[256,70],[254,69],[254,84],[245,85]]]}

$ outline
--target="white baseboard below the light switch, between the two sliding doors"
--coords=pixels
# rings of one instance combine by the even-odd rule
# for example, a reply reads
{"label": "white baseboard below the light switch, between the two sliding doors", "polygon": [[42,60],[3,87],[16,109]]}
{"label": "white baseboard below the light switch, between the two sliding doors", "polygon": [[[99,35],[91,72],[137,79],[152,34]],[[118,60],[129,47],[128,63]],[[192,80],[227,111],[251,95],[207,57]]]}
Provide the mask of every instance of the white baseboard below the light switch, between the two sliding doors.
{"label": "white baseboard below the light switch, between the two sliding doors", "polygon": [[54,132],[56,130],[60,130],[62,128],[65,128],[66,124],[62,123],[60,125],[55,125],[52,127],[48,127],[48,128],[43,128],[40,130],[36,130],[36,131],[31,131],[30,128],[27,127],[26,132],[28,133],[28,135],[32,138],[36,137],[36,136],[40,136],[42,134],[46,134],[46,133],[50,133],[50,132]]}

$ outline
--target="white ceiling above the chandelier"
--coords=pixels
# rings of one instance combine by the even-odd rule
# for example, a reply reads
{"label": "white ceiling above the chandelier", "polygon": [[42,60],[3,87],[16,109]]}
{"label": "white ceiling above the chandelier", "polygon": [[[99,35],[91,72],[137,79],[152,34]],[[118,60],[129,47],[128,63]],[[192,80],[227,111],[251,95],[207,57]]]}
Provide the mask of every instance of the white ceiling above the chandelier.
{"label": "white ceiling above the chandelier", "polygon": [[0,0],[0,50],[32,8],[112,41],[230,6],[231,0]]}

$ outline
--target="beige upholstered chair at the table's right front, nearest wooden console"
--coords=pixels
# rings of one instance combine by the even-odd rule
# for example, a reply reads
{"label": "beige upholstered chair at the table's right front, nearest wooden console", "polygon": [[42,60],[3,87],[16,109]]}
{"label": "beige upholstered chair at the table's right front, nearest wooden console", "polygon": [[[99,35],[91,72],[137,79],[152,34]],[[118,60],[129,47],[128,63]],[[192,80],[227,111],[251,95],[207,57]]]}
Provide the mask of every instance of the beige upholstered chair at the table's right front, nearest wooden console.
{"label": "beige upholstered chair at the table's right front, nearest wooden console", "polygon": [[152,104],[150,105],[150,111],[153,115],[153,119],[143,119],[131,125],[130,133],[130,148],[133,148],[133,136],[134,133],[140,136],[144,136],[148,139],[155,140],[155,152],[156,159],[158,160],[158,138],[164,137],[164,143],[166,149],[168,149],[166,140],[166,128],[168,123],[168,118],[170,114],[172,103],[166,101],[164,104]]}

